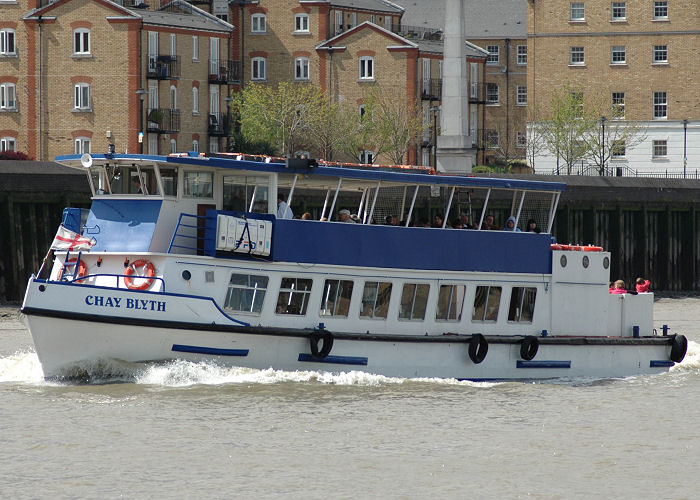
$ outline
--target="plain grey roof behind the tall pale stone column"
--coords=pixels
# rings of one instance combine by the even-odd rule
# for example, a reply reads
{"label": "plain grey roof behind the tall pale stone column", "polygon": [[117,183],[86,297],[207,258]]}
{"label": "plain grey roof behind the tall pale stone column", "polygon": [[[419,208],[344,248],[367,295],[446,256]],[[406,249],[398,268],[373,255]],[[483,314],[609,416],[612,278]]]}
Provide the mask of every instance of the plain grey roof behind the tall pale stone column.
{"label": "plain grey roof behind the tall pale stone column", "polygon": [[[464,0],[467,18],[465,36],[478,38],[526,38],[525,0]],[[401,24],[443,29],[446,0],[394,0],[405,9]]]}

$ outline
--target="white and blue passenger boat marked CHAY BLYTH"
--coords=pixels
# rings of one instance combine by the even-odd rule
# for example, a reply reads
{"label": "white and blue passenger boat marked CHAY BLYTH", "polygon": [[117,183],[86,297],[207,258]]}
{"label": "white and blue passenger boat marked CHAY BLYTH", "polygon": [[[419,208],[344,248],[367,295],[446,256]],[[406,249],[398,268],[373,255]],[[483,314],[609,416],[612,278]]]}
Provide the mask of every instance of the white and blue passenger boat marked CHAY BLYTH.
{"label": "white and blue passenger boat marked CHAY BLYTH", "polygon": [[[22,313],[46,377],[175,359],[392,377],[667,371],[687,341],[653,294],[608,293],[610,254],[553,244],[562,183],[245,155],[72,155],[67,208]],[[278,214],[278,193],[295,212]],[[359,223],[337,221],[349,209]],[[515,231],[409,222],[431,210]],[[299,215],[297,213],[297,215]],[[374,224],[387,215],[400,225]],[[526,232],[534,219],[542,232]]]}

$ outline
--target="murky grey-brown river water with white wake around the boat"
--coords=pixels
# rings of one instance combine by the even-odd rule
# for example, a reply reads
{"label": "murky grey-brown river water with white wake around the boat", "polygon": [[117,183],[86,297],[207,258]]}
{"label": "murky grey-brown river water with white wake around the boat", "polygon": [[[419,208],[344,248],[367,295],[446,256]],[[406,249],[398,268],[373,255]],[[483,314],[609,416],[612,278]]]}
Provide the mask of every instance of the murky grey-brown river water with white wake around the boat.
{"label": "murky grey-brown river water with white wake around the boat", "polygon": [[0,497],[697,498],[700,298],[669,373],[470,383],[174,362],[43,380],[0,308]]}

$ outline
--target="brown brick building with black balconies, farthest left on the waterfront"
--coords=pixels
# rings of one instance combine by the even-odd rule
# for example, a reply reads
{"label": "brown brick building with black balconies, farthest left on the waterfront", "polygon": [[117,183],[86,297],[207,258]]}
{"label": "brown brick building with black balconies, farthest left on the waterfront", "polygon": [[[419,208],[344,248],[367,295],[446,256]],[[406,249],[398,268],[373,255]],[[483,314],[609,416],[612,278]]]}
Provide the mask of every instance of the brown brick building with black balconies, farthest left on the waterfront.
{"label": "brown brick building with black balconies, farthest left on the waterfront", "polygon": [[225,147],[233,27],[179,0],[141,7],[0,2],[0,149],[51,160]]}

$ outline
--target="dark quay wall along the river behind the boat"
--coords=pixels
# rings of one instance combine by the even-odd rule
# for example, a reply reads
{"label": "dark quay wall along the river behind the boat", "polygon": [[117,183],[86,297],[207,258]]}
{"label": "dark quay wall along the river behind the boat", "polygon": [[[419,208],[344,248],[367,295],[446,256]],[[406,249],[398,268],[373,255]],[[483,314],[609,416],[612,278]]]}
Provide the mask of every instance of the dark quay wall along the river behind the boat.
{"label": "dark quay wall along the river behind the boat", "polygon": [[[498,177],[566,183],[553,235],[609,250],[612,280],[631,287],[643,276],[655,291],[700,291],[700,180]],[[83,172],[53,162],[0,161],[0,303],[21,301],[68,206],[90,206]]]}

